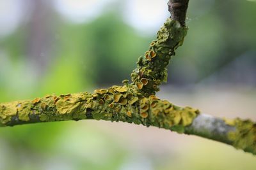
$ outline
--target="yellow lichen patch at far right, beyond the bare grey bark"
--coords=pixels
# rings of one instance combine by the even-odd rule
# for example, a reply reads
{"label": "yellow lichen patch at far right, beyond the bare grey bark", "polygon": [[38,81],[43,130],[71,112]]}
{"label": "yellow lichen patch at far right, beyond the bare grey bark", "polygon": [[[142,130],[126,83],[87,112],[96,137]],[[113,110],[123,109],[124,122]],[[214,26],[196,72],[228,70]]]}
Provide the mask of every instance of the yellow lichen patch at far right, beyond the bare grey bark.
{"label": "yellow lichen patch at far right, beyond the bare grey bark", "polygon": [[256,155],[256,124],[252,120],[241,120],[240,118],[225,121],[228,125],[236,127],[236,131],[228,133],[228,139],[232,141],[232,145],[237,149]]}

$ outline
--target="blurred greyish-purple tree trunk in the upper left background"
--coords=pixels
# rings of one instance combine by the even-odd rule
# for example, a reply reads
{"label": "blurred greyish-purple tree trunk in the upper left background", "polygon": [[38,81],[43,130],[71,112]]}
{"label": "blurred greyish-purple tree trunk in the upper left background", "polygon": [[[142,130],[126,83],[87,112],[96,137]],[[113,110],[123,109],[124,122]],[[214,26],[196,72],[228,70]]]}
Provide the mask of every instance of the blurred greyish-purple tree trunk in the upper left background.
{"label": "blurred greyish-purple tree trunk in the upper left background", "polygon": [[27,55],[29,62],[33,66],[33,72],[36,77],[42,76],[47,70],[47,66],[52,60],[51,42],[52,35],[51,23],[52,7],[44,0],[29,0],[27,5],[31,6],[28,40],[27,40]]}

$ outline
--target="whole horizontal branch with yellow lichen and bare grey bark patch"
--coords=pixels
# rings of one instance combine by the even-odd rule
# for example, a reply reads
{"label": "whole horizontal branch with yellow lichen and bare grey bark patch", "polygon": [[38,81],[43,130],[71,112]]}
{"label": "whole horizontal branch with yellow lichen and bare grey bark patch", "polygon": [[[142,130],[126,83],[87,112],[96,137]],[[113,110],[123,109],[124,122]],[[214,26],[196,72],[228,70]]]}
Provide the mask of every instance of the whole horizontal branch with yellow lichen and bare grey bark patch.
{"label": "whole horizontal branch with yellow lichen and bare grey bark patch", "polygon": [[252,121],[224,120],[200,114],[193,108],[175,106],[154,95],[142,97],[128,83],[95,90],[93,94],[45,96],[0,104],[2,127],[83,119],[155,126],[213,139],[256,154],[256,124]]}

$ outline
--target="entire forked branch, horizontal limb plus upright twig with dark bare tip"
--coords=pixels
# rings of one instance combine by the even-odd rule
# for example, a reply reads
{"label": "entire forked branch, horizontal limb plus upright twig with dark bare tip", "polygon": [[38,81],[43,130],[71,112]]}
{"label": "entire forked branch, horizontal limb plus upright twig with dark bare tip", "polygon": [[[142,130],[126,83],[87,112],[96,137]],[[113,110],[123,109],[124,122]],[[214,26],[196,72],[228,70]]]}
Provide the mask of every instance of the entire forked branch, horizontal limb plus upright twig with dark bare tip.
{"label": "entire forked branch, horizontal limb plus upright twig with dark bare tip", "polygon": [[256,154],[256,124],[251,120],[215,118],[154,96],[158,86],[166,81],[166,66],[188,31],[184,23],[185,4],[188,5],[187,0],[169,2],[172,18],[168,18],[157,32],[157,39],[139,58],[131,83],[124,80],[122,86],[95,90],[93,94],[0,103],[0,126],[83,119],[122,121],[194,134]]}

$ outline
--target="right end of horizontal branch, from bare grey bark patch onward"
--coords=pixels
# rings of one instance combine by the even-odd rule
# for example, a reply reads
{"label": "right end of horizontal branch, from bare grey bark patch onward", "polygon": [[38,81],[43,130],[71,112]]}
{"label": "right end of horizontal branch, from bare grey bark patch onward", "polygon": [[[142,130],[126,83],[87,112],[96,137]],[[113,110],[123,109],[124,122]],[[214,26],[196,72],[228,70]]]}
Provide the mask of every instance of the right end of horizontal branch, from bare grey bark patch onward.
{"label": "right end of horizontal branch, from bare grey bark patch onward", "polygon": [[220,141],[256,155],[256,124],[251,120],[227,120],[200,114],[185,127],[185,133]]}

